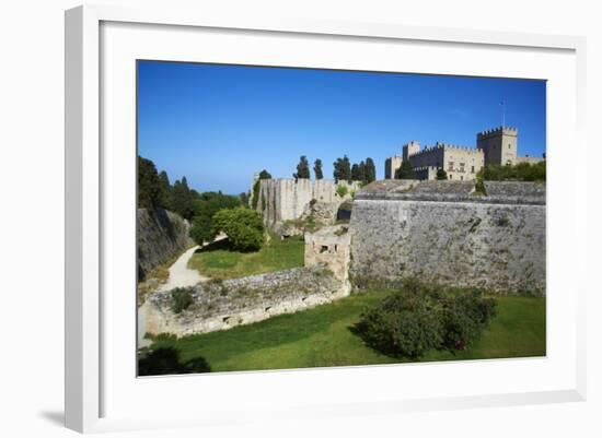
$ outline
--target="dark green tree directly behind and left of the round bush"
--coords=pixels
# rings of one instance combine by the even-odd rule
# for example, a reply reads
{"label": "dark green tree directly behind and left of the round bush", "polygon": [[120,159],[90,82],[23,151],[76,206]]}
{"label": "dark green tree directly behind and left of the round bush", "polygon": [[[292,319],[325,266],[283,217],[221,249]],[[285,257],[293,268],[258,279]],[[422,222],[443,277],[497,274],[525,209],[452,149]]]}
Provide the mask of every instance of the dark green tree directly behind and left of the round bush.
{"label": "dark green tree directly behind and left of the round bush", "polygon": [[198,245],[212,241],[216,238],[213,234],[213,215],[221,210],[240,205],[241,200],[239,197],[215,191],[201,193],[199,199],[194,202],[194,218],[190,228],[193,240]]}

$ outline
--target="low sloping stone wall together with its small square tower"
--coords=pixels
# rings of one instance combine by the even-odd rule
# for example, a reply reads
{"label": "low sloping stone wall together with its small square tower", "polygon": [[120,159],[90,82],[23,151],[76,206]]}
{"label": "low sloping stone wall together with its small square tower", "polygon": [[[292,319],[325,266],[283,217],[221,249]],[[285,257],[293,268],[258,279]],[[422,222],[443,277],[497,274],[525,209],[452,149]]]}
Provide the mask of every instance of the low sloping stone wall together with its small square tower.
{"label": "low sloping stone wall together with its small square tower", "polygon": [[349,295],[350,238],[346,226],[305,235],[303,268],[209,281],[189,288],[193,305],[172,309],[172,291],[152,294],[140,309],[147,332],[183,336],[292,313]]}

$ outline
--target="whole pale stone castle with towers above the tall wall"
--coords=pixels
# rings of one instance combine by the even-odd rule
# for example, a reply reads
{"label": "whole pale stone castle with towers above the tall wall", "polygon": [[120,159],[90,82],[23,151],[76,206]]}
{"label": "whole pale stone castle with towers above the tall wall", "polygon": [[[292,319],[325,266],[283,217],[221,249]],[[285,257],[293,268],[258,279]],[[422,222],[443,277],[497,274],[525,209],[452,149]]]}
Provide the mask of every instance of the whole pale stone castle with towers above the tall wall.
{"label": "whole pale stone castle with towers above the tall wall", "polygon": [[500,127],[477,133],[476,149],[437,143],[420,150],[417,141],[403,146],[403,155],[386,158],[385,179],[395,178],[395,171],[404,161],[409,161],[420,180],[437,178],[437,170],[444,169],[450,180],[473,180],[485,165],[514,165],[537,163],[543,158],[518,156],[518,129]]}

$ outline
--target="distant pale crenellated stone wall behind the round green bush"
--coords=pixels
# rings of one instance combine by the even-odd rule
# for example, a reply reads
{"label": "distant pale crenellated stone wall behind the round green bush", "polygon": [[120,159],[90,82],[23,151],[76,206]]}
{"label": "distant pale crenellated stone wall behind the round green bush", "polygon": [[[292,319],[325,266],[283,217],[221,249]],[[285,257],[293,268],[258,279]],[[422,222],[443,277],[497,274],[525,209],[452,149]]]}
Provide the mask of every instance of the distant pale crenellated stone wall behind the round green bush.
{"label": "distant pale crenellated stone wall behind the round green bush", "polygon": [[[347,194],[337,194],[337,187],[347,188]],[[296,221],[302,217],[310,202],[327,203],[338,206],[351,198],[359,189],[359,182],[338,181],[332,179],[262,179],[256,209],[264,216],[267,226],[274,227],[285,221]],[[336,210],[336,209],[335,209]],[[334,223],[334,222],[333,222]]]}

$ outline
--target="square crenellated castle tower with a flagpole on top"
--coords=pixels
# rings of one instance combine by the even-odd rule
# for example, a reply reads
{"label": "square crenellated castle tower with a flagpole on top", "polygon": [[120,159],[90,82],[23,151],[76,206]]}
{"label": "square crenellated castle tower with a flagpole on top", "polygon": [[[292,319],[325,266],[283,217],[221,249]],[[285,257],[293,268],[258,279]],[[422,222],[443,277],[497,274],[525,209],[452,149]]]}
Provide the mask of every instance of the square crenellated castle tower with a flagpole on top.
{"label": "square crenellated castle tower with a flagpole on top", "polygon": [[485,165],[517,164],[518,141],[517,128],[499,127],[476,134],[476,147],[483,150]]}

